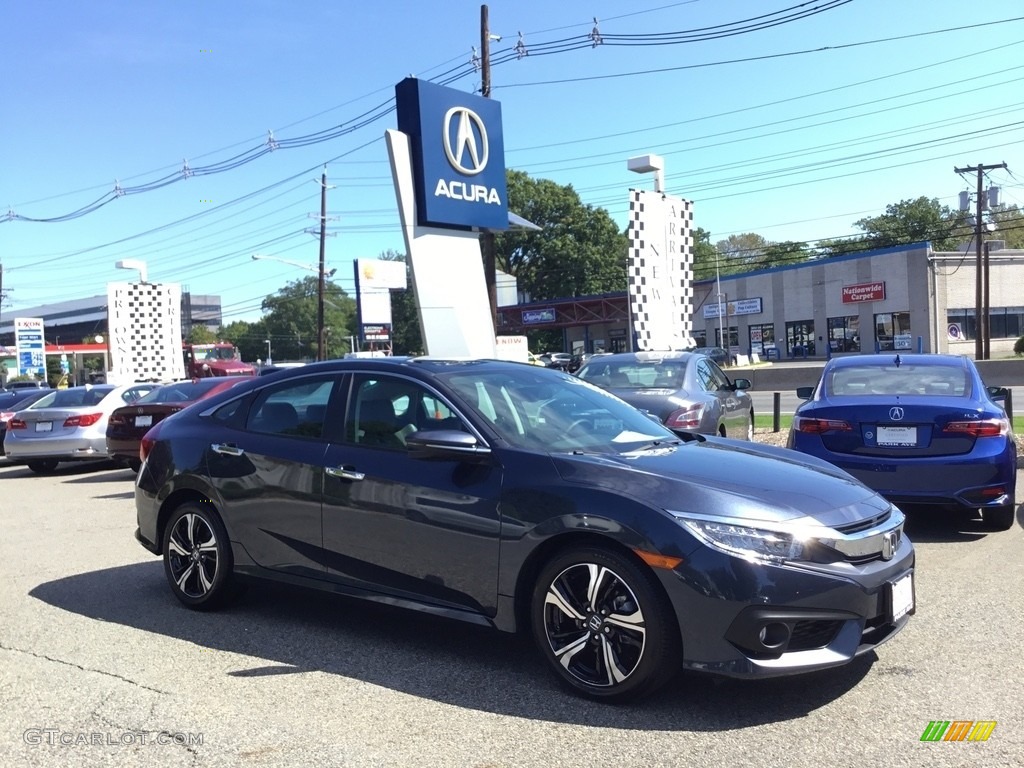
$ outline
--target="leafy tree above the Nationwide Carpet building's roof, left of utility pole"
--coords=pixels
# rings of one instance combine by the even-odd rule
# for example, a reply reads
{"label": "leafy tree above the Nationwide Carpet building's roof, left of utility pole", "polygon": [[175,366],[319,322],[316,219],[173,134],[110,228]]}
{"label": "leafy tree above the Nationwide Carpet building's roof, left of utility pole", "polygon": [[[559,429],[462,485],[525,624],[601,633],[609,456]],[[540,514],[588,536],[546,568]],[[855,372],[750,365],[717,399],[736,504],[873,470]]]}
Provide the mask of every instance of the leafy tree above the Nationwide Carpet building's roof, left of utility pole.
{"label": "leafy tree above the Nationwide Carpet building's roof, left of utility pole", "polygon": [[951,211],[936,198],[902,200],[886,206],[881,216],[854,222],[865,232],[867,248],[888,248],[930,241],[936,251],[953,251],[970,237],[966,211]]}

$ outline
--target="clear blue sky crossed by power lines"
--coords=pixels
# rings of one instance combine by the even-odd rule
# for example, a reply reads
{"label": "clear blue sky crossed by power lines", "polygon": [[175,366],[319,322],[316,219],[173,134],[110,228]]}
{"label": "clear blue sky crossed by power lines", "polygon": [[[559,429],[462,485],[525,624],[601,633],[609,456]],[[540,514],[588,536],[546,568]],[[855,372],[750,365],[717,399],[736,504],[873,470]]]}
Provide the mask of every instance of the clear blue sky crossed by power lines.
{"label": "clear blue sky crossed by power lines", "polygon": [[[629,188],[652,187],[626,160],[647,153],[665,157],[668,190],[694,201],[694,222],[713,242],[749,231],[772,242],[847,236],[857,219],[921,196],[955,207],[974,188],[957,166],[1006,162],[1009,172],[991,172],[986,185],[1024,205],[1020,0],[487,6],[502,36],[492,43],[492,95],[507,165],[571,184],[621,227]],[[807,15],[685,44],[617,37],[707,36],[784,8]],[[585,38],[595,17],[596,46]],[[304,230],[317,223],[309,215],[325,163],[336,217],[327,263],[351,291],[353,258],[404,248],[383,141],[395,127],[394,85],[465,72],[451,85],[478,89],[469,62],[479,26],[480,3],[465,0],[8,4],[3,316],[104,294],[108,282],[133,279],[116,261],[141,259],[152,281],[219,294],[225,322],[256,319],[266,295],[309,272],[253,253],[318,258]],[[519,33],[529,51],[521,58]],[[557,41],[579,45],[557,51]],[[341,135],[316,135],[339,126]],[[268,131],[309,139],[231,170],[182,174],[245,160]],[[5,216],[61,217],[115,184],[160,179],[171,183],[67,221]]]}

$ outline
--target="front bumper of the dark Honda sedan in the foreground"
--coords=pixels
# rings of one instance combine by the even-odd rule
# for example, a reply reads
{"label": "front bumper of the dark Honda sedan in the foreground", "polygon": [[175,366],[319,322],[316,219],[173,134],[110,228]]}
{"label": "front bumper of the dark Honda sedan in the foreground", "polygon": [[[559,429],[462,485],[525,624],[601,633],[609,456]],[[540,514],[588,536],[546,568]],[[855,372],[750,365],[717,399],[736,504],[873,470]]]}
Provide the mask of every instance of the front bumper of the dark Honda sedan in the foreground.
{"label": "front bumper of the dark Honda sedan in the foreground", "polygon": [[[701,547],[658,570],[679,616],[688,670],[736,678],[813,672],[850,663],[902,630],[896,590],[912,585],[913,547],[864,564],[767,564]],[[913,600],[912,592],[910,599]]]}

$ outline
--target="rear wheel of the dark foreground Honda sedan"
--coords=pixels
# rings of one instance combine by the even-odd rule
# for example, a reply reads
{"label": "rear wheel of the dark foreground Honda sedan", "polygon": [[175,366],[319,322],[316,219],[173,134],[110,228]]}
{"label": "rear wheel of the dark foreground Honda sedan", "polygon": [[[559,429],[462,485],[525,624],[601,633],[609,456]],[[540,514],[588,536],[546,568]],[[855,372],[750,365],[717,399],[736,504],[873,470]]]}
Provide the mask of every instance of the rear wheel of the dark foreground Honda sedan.
{"label": "rear wheel of the dark foreground Honda sedan", "polygon": [[231,596],[231,547],[211,503],[188,502],[172,513],[163,553],[167,583],[182,604],[211,610]]}

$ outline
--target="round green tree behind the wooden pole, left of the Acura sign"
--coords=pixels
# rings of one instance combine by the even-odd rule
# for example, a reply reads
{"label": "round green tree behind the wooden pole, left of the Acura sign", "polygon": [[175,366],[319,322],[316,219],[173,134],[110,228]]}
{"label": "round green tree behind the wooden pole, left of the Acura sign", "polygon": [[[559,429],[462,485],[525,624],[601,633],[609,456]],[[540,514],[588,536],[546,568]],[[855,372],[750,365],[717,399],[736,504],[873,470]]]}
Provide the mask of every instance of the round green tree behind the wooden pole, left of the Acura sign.
{"label": "round green tree behind the wooden pole, left of the Acura sign", "polygon": [[[315,359],[317,281],[315,275],[292,281],[263,299],[263,338],[270,340],[273,359]],[[325,285],[324,299],[326,356],[340,357],[355,333],[355,300],[331,281]]]}

